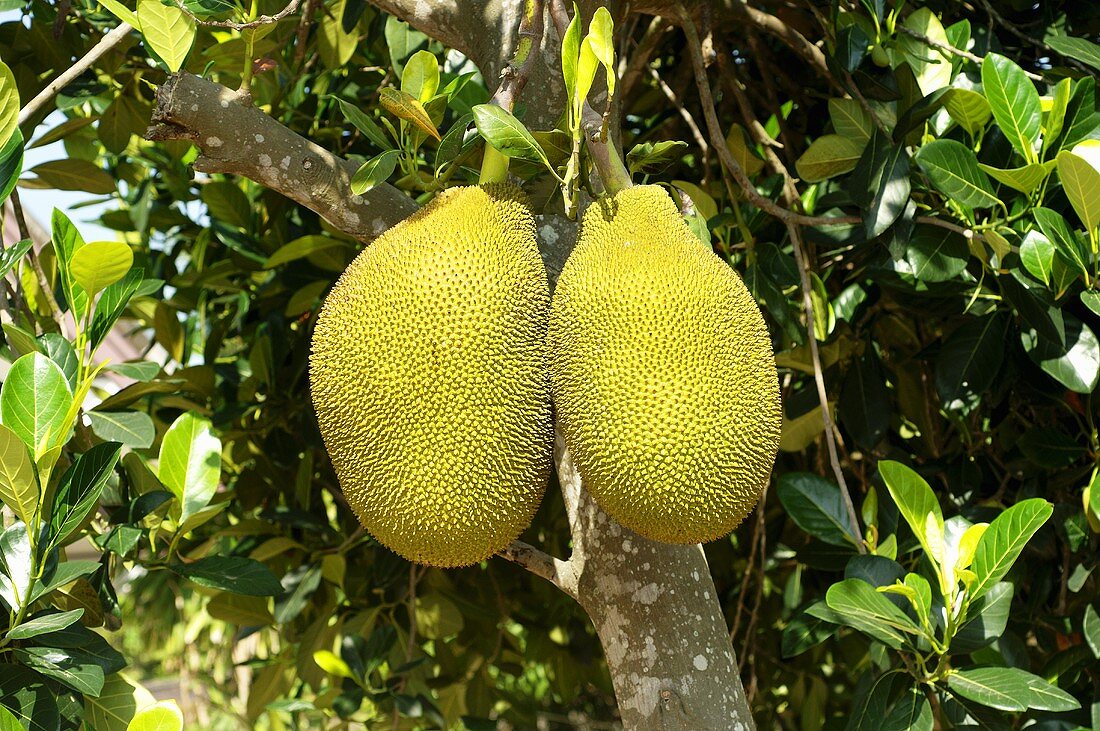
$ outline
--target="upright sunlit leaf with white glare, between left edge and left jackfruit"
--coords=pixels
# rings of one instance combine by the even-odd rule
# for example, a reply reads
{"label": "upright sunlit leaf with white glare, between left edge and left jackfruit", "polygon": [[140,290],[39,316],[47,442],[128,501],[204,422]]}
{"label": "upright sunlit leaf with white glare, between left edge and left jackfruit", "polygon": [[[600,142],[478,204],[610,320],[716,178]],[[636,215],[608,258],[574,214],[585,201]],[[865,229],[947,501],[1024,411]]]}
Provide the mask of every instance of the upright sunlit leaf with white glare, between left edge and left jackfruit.
{"label": "upright sunlit leaf with white glare, between left edge and left jackfruit", "polygon": [[180,414],[161,442],[157,477],[179,500],[183,523],[209,502],[221,476],[221,441],[210,422],[194,412]]}

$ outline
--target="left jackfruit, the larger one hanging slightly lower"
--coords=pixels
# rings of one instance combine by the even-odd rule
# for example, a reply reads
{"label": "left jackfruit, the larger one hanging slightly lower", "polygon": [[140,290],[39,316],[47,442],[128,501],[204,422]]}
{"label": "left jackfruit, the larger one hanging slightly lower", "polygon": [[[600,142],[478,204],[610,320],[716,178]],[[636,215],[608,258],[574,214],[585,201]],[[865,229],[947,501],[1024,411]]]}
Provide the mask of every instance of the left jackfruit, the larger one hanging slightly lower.
{"label": "left jackfruit, the larger one hanging slightly lower", "polygon": [[550,290],[522,193],[453,188],[371,244],[314,332],[348,503],[395,553],[465,566],[530,524],[553,447]]}

